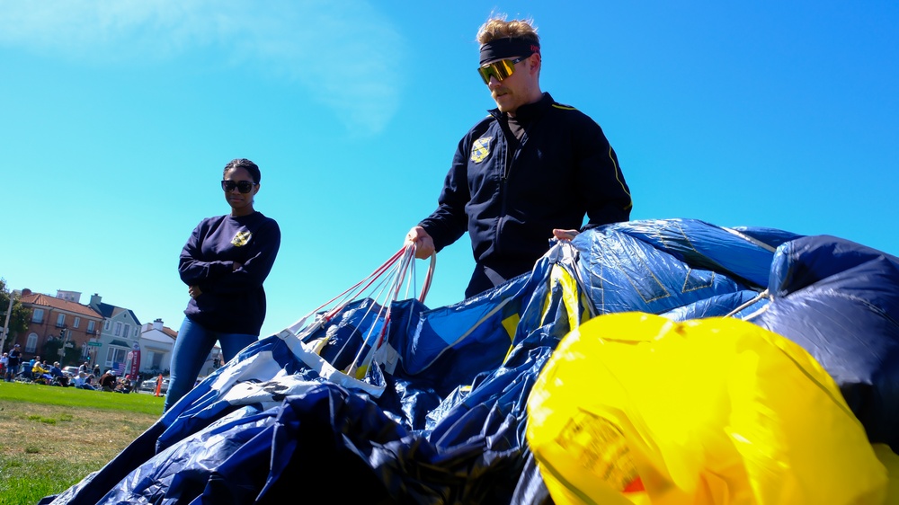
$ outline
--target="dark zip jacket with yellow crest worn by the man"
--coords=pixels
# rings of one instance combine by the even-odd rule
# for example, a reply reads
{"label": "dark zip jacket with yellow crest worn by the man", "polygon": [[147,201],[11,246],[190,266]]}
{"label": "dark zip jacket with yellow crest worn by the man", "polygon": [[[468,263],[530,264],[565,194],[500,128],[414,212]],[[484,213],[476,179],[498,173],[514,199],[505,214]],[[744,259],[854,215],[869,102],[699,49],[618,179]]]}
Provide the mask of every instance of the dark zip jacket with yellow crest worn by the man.
{"label": "dark zip jacket with yellow crest worn by the man", "polygon": [[468,131],[439,207],[420,223],[438,252],[467,231],[477,263],[504,279],[534,266],[553,228],[627,221],[632,207],[618,157],[590,117],[549,93],[516,117],[524,127],[520,142],[495,109]]}

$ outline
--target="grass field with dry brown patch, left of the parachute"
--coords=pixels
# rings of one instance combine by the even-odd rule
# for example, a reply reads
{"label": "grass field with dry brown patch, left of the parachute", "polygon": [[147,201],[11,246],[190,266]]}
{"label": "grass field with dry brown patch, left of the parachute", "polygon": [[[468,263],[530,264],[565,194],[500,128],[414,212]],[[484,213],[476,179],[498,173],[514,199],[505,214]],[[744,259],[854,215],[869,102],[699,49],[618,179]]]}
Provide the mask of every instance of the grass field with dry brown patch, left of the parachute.
{"label": "grass field with dry brown patch, left of the parachute", "polygon": [[0,381],[0,505],[34,505],[99,470],[159,419],[163,400]]}

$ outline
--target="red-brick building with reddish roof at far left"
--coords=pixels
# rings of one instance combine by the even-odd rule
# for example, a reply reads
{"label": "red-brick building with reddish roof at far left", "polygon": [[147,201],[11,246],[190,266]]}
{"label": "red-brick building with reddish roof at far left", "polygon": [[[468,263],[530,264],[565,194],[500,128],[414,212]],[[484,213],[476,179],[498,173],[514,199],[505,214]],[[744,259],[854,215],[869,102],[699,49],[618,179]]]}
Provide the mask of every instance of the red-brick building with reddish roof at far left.
{"label": "red-brick building with reddish roof at far left", "polygon": [[[63,349],[80,350],[80,359],[91,357],[93,346],[88,345],[100,332],[103,316],[90,306],[76,301],[31,293],[22,289],[22,306],[31,309],[31,321],[24,334],[16,335],[13,343],[22,347],[25,359],[40,355],[44,345],[50,340],[61,341]],[[12,344],[11,344],[12,345]],[[50,363],[64,361],[60,356],[41,356]],[[64,366],[77,363],[63,363]]]}

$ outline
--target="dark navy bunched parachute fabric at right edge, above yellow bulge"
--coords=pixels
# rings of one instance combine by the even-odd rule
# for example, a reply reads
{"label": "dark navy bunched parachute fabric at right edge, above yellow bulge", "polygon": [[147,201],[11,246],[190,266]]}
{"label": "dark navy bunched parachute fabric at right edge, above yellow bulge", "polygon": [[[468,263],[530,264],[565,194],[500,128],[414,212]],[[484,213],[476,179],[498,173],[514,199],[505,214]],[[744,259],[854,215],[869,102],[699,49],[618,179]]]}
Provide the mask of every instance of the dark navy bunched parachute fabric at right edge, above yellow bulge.
{"label": "dark navy bunched parachute fabric at right edge, above yellow bulge", "polygon": [[752,319],[805,348],[872,443],[899,452],[899,259],[832,236],[780,246],[773,299]]}

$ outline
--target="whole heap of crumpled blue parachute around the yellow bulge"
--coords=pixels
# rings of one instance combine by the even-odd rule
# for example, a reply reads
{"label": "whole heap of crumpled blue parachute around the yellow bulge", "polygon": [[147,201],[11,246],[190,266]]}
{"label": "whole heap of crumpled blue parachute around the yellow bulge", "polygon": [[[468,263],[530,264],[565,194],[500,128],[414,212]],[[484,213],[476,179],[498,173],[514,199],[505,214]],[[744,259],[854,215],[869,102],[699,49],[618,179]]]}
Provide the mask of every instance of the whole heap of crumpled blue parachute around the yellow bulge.
{"label": "whole heap of crumpled blue parachute around the yellow bulge", "polygon": [[[527,437],[532,390],[566,335],[634,312],[732,318],[779,335],[832,377],[827,391],[842,396],[834,404],[849,409],[873,454],[899,452],[899,259],[890,254],[770,228],[632,221],[555,242],[529,273],[434,309],[423,296],[398,297],[411,252],[392,260],[388,297],[355,291],[255,342],[109,464],[41,503],[274,503],[287,492],[539,503],[550,490]],[[586,403],[591,389],[579,387]],[[870,485],[884,489],[869,496],[886,492],[885,479]]]}

